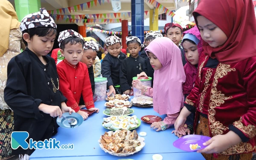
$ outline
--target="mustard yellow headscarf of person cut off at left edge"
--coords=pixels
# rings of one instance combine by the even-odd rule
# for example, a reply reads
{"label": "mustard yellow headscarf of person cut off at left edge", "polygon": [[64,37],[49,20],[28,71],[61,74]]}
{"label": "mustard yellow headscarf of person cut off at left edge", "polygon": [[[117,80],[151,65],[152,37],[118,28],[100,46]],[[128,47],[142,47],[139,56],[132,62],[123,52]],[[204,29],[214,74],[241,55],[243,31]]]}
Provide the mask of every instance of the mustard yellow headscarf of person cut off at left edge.
{"label": "mustard yellow headscarf of person cut off at left edge", "polygon": [[20,27],[17,13],[8,0],[1,0],[0,21],[0,37],[2,39],[0,41],[0,57],[2,57],[9,47],[10,30]]}

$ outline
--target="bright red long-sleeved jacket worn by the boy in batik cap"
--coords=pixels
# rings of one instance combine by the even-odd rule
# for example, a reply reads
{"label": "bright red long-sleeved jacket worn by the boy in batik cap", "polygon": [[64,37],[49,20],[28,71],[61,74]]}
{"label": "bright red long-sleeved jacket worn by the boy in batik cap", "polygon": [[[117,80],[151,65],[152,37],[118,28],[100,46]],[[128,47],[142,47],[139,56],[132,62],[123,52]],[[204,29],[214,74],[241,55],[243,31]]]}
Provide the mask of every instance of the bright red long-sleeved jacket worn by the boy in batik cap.
{"label": "bright red long-sleeved jacket worn by the boy in batik cap", "polygon": [[93,91],[86,64],[79,62],[76,66],[66,59],[57,64],[60,91],[67,98],[67,106],[76,112],[80,110],[81,94],[87,109],[93,108]]}

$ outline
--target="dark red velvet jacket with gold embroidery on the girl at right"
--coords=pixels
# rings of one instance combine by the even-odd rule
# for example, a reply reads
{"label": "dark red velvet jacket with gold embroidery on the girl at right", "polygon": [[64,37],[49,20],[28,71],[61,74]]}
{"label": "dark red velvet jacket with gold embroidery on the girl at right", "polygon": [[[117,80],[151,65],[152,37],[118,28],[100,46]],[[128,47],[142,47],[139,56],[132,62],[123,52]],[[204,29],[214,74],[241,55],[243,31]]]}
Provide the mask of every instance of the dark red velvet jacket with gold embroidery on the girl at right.
{"label": "dark red velvet jacket with gold embroidery on the girl at right", "polygon": [[209,55],[202,53],[195,86],[185,103],[208,116],[210,137],[238,128],[249,141],[241,142],[220,154],[231,155],[256,151],[256,57],[232,64],[205,65]]}

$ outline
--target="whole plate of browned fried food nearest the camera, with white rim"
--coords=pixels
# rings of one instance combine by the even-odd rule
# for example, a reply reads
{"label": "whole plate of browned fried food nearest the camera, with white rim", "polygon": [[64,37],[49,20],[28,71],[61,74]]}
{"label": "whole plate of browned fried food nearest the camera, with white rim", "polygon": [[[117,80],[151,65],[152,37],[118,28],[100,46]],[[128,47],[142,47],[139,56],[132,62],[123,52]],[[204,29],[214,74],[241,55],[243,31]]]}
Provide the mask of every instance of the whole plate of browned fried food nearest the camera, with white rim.
{"label": "whole plate of browned fried food nearest the camera, with white rim", "polygon": [[137,131],[117,130],[108,131],[98,140],[100,148],[105,153],[125,157],[139,152],[145,146],[143,137],[139,137]]}

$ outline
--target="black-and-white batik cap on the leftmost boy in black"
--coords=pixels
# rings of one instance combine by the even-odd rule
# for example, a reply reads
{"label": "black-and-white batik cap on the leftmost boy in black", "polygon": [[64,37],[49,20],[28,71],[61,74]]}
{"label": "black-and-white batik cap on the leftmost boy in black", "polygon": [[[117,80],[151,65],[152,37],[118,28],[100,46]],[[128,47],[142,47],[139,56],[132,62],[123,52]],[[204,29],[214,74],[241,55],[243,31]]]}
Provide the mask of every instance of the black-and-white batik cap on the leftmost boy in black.
{"label": "black-and-white batik cap on the leftmost boy in black", "polygon": [[26,15],[26,17],[21,20],[21,31],[35,27],[52,27],[57,29],[56,23],[54,22],[52,17],[49,16],[49,13],[45,8],[41,8],[40,12]]}

